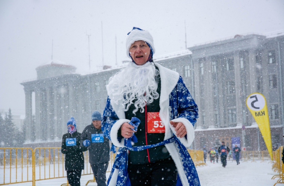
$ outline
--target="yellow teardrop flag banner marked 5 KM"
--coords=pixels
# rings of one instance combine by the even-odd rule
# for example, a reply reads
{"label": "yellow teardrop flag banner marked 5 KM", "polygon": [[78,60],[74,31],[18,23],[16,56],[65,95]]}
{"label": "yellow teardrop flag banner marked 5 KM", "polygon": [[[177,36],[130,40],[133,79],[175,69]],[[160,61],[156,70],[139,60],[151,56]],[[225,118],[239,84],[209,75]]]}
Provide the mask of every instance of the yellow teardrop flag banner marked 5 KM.
{"label": "yellow teardrop flag banner marked 5 KM", "polygon": [[272,157],[272,143],[271,143],[271,133],[270,133],[270,124],[269,124],[269,117],[268,117],[268,110],[266,105],[266,99],[264,95],[261,93],[252,93],[246,99],[246,105],[250,110],[250,113],[253,115],[264,142],[266,144],[267,150],[270,154],[271,159]]}

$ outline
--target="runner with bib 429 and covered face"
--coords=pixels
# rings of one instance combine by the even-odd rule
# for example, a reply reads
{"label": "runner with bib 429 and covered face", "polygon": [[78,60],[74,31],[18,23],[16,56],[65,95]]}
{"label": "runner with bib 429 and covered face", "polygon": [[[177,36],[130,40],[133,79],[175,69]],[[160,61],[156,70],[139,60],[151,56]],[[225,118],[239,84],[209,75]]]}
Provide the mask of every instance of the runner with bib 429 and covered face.
{"label": "runner with bib 429 and covered face", "polygon": [[61,152],[65,154],[65,170],[71,186],[80,186],[80,178],[84,169],[83,152],[86,147],[80,146],[81,133],[77,132],[73,117],[67,122],[68,133],[62,136]]}

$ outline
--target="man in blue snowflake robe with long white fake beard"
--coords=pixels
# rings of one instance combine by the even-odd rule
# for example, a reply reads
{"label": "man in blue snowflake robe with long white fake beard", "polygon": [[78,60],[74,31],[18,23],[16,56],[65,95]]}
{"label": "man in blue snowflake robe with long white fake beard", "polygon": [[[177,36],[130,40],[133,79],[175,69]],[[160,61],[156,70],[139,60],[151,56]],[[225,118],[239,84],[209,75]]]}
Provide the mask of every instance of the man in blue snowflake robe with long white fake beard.
{"label": "man in blue snowflake robe with long white fake beard", "polygon": [[178,72],[153,62],[150,32],[133,27],[132,60],[109,80],[102,119],[106,137],[120,147],[108,185],[200,186],[189,147],[198,108]]}

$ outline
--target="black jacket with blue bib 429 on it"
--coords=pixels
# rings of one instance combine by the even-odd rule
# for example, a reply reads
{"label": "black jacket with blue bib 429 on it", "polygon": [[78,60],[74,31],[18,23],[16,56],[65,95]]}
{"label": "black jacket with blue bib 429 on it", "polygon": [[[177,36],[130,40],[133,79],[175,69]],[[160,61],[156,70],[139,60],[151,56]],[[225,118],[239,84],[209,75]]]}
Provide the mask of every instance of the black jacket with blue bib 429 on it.
{"label": "black jacket with blue bib 429 on it", "polygon": [[62,136],[61,152],[65,154],[65,170],[84,169],[84,155],[86,147],[80,146],[81,133],[66,133]]}

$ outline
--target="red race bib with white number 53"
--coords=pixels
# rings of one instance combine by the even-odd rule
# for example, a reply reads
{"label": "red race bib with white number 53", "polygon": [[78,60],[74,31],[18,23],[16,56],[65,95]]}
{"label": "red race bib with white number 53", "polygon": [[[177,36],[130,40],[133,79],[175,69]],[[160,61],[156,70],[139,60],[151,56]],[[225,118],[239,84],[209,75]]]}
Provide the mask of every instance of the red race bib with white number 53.
{"label": "red race bib with white number 53", "polygon": [[165,126],[159,117],[159,112],[147,113],[148,133],[165,133]]}

